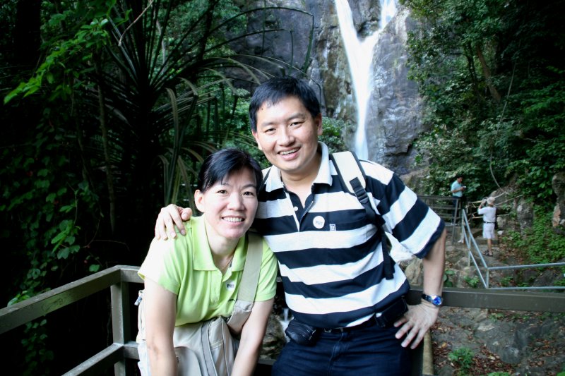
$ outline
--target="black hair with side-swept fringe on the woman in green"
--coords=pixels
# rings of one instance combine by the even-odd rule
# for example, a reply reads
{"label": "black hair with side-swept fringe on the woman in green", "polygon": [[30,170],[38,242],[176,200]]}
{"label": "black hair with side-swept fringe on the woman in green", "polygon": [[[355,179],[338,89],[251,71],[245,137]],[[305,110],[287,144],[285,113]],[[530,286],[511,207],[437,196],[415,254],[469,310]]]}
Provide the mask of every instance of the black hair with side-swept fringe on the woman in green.
{"label": "black hair with side-swept fringe on the woman in green", "polygon": [[261,166],[247,152],[234,148],[218,150],[218,152],[210,154],[204,159],[198,173],[196,189],[206,192],[211,186],[222,181],[232,172],[242,169],[251,170],[251,173],[255,176],[255,185],[258,191],[261,181],[263,181]]}

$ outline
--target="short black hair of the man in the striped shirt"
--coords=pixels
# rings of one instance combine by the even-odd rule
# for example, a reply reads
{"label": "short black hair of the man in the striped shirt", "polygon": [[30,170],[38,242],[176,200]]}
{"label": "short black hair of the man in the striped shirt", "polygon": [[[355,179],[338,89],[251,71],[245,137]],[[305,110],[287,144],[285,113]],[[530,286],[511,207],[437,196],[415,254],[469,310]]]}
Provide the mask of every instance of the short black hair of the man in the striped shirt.
{"label": "short black hair of the man in the striped shirt", "polygon": [[313,118],[320,114],[318,97],[307,83],[289,75],[273,77],[259,85],[251,97],[251,103],[249,103],[251,131],[257,131],[257,111],[264,103],[277,104],[287,97],[297,97]]}

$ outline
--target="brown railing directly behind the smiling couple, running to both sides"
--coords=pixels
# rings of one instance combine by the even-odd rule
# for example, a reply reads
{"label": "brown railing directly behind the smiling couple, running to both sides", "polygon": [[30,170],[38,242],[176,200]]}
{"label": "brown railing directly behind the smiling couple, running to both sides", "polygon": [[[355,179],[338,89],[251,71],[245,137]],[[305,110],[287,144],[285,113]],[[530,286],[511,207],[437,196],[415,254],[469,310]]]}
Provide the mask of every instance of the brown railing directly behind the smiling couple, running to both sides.
{"label": "brown railing directly behind the smiling couple, running to both sides", "polygon": [[[95,356],[77,365],[65,375],[100,375],[107,373],[112,367],[115,375],[126,375],[126,360],[138,359],[137,344],[129,329],[131,320],[136,320],[136,313],[132,316],[133,301],[130,299],[128,286],[130,283],[141,284],[137,271],[138,267],[118,265],[2,308],[0,334],[109,288],[112,301],[113,343],[102,348]],[[412,288],[407,296],[408,303],[419,303],[421,294],[420,287]],[[446,289],[444,305],[565,313],[565,293]]]}

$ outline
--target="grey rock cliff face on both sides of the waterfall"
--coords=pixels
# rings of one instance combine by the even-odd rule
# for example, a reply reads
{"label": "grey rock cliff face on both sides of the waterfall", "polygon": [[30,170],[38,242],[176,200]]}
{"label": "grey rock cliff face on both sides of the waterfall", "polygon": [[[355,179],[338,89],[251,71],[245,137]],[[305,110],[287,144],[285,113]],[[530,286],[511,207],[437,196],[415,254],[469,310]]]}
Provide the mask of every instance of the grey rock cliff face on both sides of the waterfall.
{"label": "grey rock cliff face on both sides of the waterfall", "polygon": [[[323,115],[356,124],[355,98],[353,97],[345,47],[340,35],[338,16],[333,0],[271,0],[267,6],[285,6],[304,12],[269,11],[265,18],[271,27],[285,29],[266,35],[249,37],[237,44],[237,51],[261,52],[283,61],[292,61],[302,67],[307,61],[309,37],[313,27],[311,60],[307,75],[314,87],[319,88]],[[379,0],[350,0],[352,16],[359,36],[364,37],[379,27]],[[263,1],[246,3],[250,8],[263,6]],[[263,19],[252,17],[249,28],[261,25]],[[420,121],[421,100],[417,86],[408,80],[405,43],[412,21],[408,11],[400,9],[383,30],[380,42],[374,49],[374,90],[367,115],[367,142],[369,159],[379,162],[398,174],[410,172],[415,157],[412,144],[424,131]],[[292,30],[292,31],[291,31]],[[277,64],[263,64],[273,74],[281,74]],[[286,73],[289,71],[286,69]],[[352,129],[345,140],[353,148]]]}

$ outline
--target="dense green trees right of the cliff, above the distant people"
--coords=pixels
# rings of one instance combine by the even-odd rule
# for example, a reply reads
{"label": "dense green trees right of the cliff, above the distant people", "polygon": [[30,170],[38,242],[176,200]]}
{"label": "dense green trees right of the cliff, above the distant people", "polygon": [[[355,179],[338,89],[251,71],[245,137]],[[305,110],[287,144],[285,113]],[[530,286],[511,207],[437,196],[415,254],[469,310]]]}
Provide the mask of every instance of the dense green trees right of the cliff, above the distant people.
{"label": "dense green trees right of the cliff, above the distant people", "polygon": [[410,75],[430,129],[417,142],[427,193],[448,195],[463,173],[470,198],[516,181],[548,202],[565,168],[565,64],[554,54],[564,48],[564,4],[401,2],[420,21],[409,35]]}

